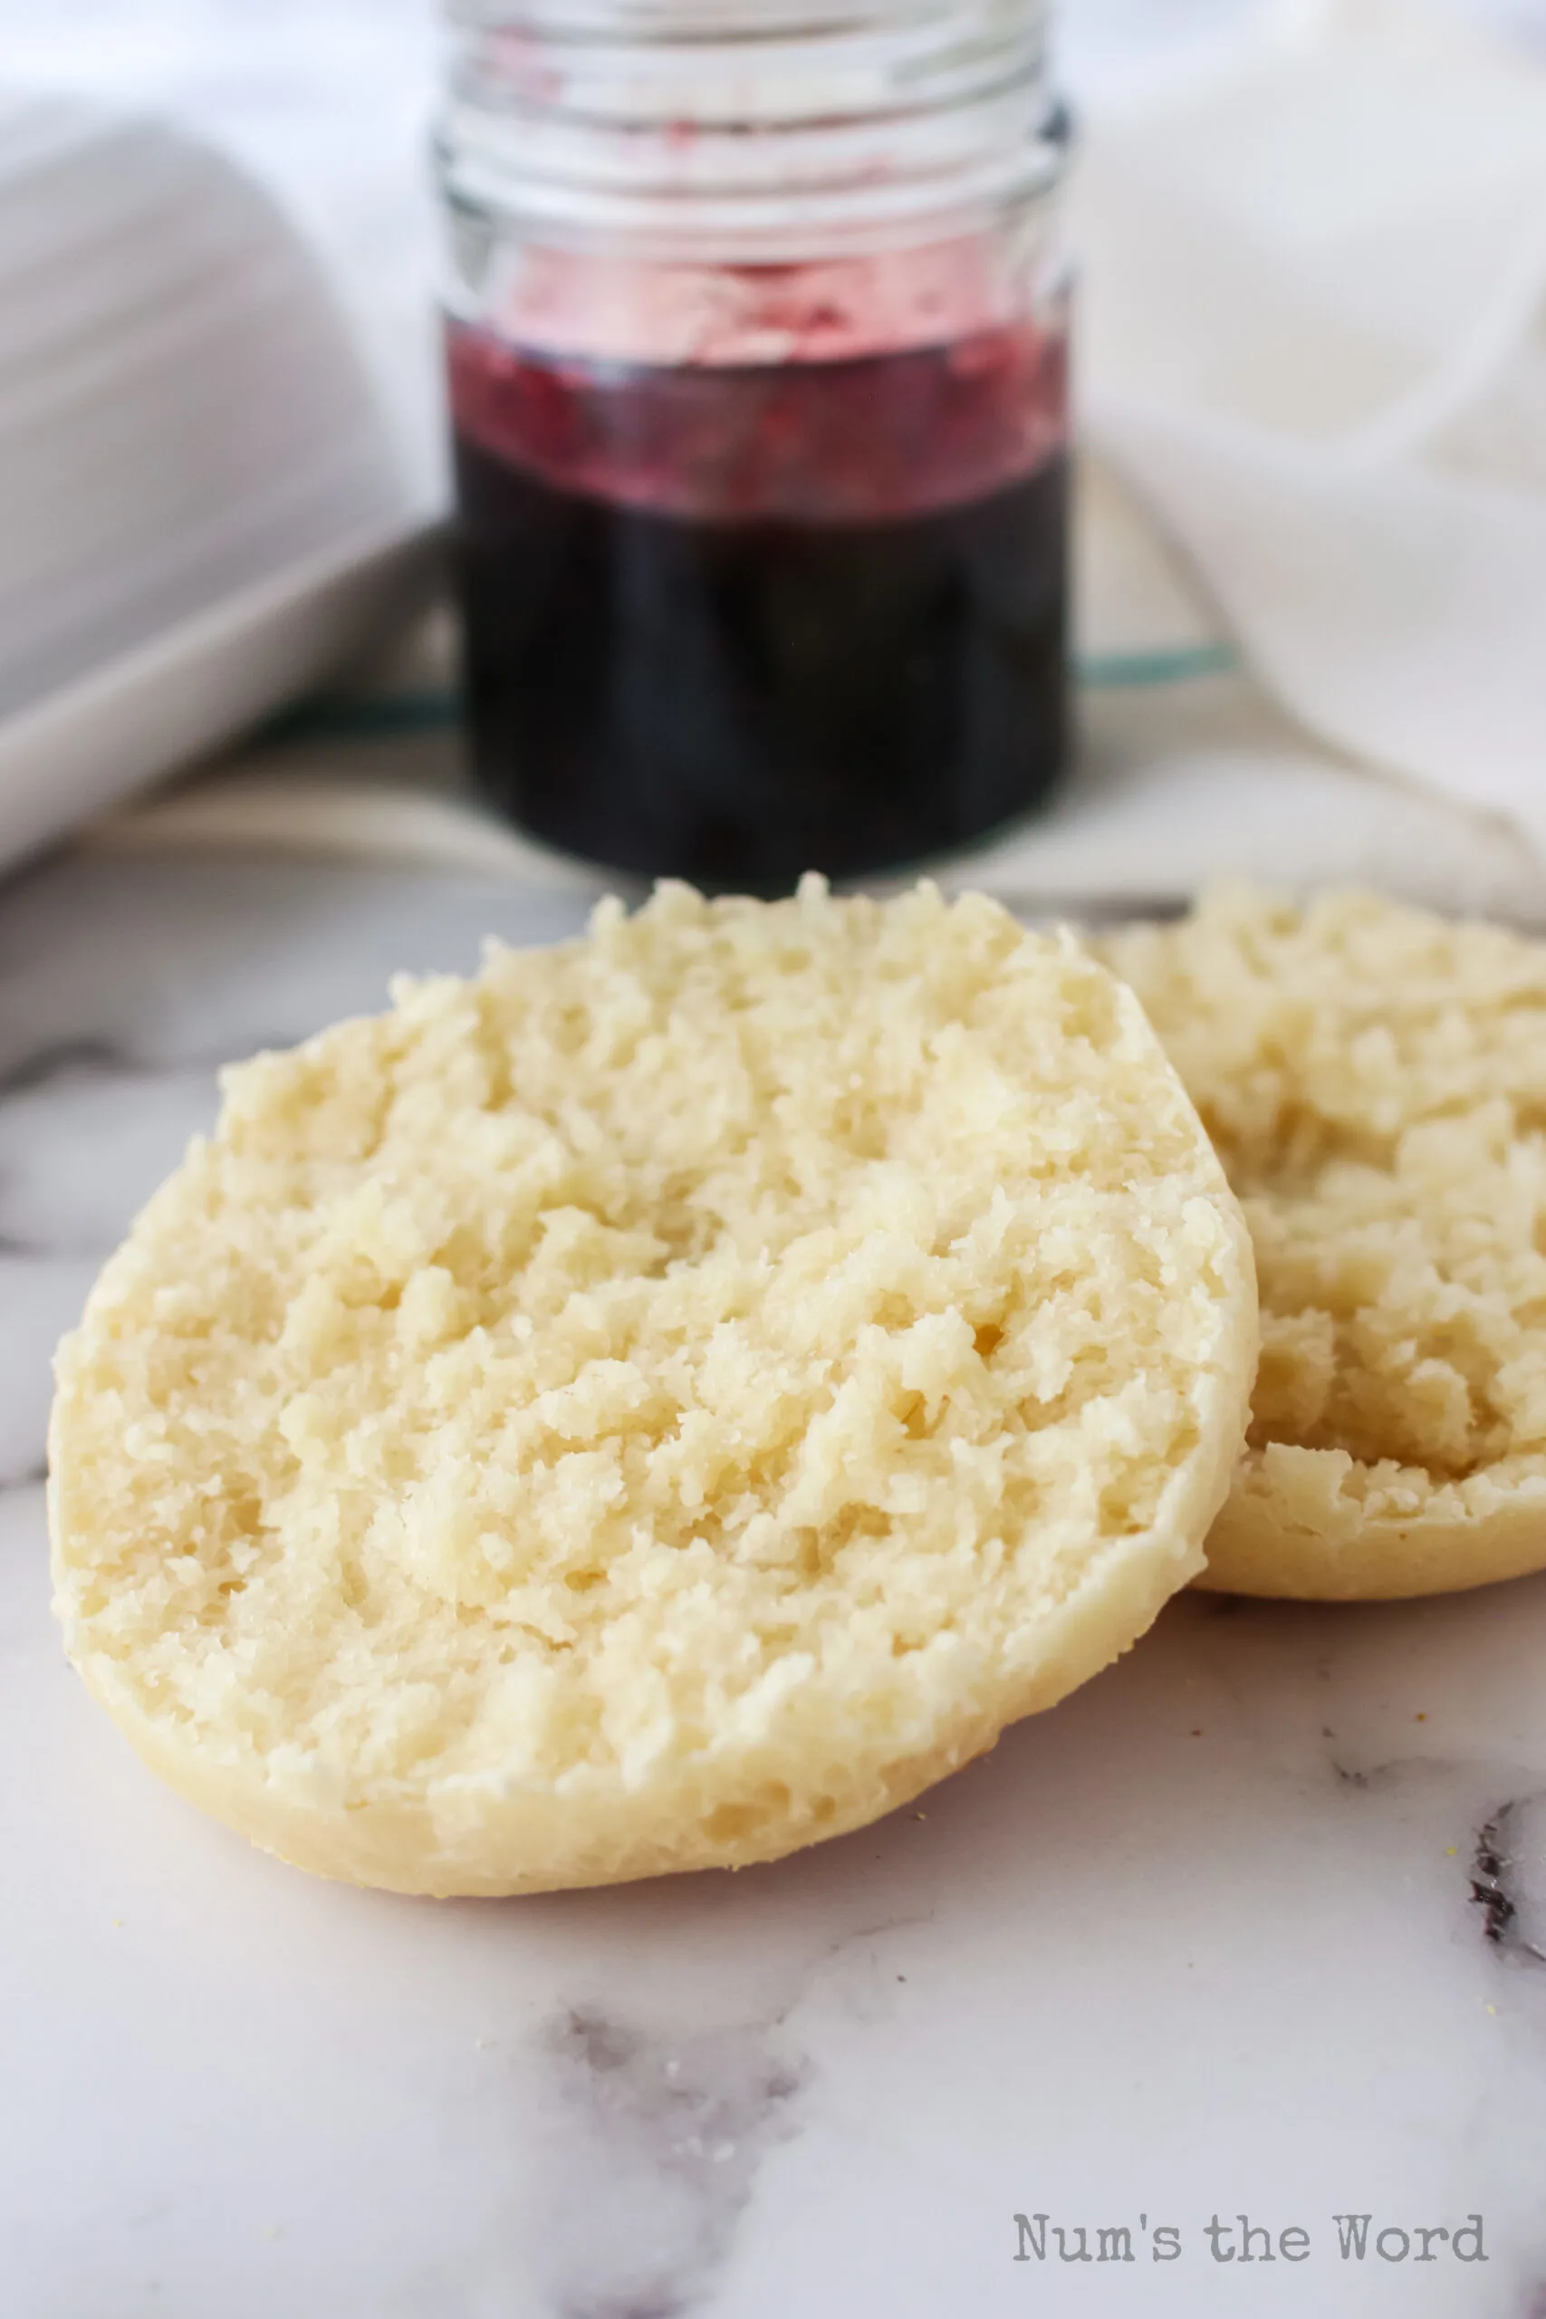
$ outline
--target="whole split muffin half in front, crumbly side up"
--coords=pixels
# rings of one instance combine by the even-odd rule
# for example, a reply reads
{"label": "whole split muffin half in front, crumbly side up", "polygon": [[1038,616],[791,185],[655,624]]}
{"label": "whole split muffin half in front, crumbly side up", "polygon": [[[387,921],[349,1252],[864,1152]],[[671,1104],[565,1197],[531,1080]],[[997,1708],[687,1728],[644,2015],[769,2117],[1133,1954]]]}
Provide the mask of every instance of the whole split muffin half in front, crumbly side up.
{"label": "whole split muffin half in front, crumbly side up", "polygon": [[665,886],[225,1078],[58,1359],[139,1751],[401,1890],[772,1858],[1201,1565],[1249,1243],[1133,997],[932,888]]}

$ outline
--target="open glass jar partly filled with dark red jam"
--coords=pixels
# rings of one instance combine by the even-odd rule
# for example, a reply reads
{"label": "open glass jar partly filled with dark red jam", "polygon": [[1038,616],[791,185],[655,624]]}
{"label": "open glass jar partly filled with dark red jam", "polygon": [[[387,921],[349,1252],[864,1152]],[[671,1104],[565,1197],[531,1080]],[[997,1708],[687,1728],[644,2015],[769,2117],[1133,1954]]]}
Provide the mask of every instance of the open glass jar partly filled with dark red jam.
{"label": "open glass jar partly filled with dark red jam", "polygon": [[480,786],[776,893],[1066,747],[1041,0],[459,0],[440,176]]}

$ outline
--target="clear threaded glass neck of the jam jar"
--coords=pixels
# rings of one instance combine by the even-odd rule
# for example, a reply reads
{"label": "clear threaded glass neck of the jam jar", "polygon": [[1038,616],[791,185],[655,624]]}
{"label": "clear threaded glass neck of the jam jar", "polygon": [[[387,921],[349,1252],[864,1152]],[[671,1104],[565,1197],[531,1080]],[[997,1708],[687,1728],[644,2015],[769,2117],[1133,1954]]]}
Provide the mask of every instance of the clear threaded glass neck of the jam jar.
{"label": "clear threaded glass neck of the jam jar", "polygon": [[452,213],[552,248],[807,264],[980,230],[1062,172],[1045,0],[452,0]]}

